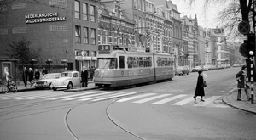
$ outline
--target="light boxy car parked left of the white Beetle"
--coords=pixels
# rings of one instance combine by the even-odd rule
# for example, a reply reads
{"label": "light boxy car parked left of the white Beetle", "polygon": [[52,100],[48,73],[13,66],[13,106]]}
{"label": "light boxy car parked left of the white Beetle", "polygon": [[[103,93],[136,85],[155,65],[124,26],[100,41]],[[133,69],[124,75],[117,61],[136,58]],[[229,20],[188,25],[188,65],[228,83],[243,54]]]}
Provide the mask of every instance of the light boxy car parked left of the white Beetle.
{"label": "light boxy car parked left of the white Beetle", "polygon": [[61,73],[49,73],[45,74],[42,79],[35,81],[34,86],[36,88],[49,88],[51,89],[51,83],[52,81],[55,81],[55,79],[60,78]]}

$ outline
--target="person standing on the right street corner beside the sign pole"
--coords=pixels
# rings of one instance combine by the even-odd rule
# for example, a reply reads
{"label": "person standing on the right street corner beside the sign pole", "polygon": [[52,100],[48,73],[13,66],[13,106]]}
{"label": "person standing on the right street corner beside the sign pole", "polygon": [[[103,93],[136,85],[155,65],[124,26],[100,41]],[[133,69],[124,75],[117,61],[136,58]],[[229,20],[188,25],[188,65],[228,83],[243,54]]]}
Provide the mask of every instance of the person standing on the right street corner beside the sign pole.
{"label": "person standing on the right street corner beside the sign pole", "polygon": [[244,88],[248,101],[251,100],[247,91],[247,66],[241,66],[241,70],[236,74],[236,81],[237,81],[237,101],[241,101],[241,88]]}

